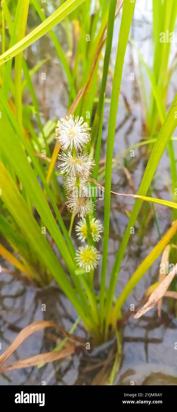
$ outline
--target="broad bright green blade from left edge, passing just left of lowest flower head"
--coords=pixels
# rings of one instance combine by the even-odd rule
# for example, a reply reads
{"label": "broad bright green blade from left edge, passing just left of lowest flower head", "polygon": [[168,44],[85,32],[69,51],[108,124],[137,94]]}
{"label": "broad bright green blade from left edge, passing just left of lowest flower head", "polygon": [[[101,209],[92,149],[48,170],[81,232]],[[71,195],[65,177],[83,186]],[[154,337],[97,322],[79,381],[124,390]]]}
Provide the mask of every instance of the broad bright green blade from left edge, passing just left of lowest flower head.
{"label": "broad bright green blade from left edge, passing just left of lowest flower head", "polygon": [[[67,232],[66,227],[64,226],[64,222],[62,220],[62,217],[60,215],[60,212],[58,211],[57,205],[55,204],[55,201],[51,195],[51,191],[46,184],[46,181],[44,179],[43,173],[39,167],[39,164],[36,160],[36,158],[33,156],[32,151],[25,140],[23,133],[18,127],[18,124],[16,123],[16,119],[14,118],[11,110],[9,109],[9,106],[7,105],[4,96],[2,94],[2,91],[0,91],[0,100],[2,101],[7,115],[11,121],[11,124],[14,126],[16,132],[18,133],[18,136],[21,138],[22,143],[24,144],[28,154],[31,157],[32,163],[34,164],[37,173],[39,174],[39,177],[41,178],[41,181],[46,189],[46,192],[48,193],[48,196],[51,200],[52,206],[55,210],[55,213],[57,215],[58,221],[60,223],[60,226],[62,227],[62,230],[64,232],[65,238],[69,238],[68,246],[69,250],[67,248],[67,245],[64,241],[64,238],[62,236],[62,233],[60,232],[59,227],[57,226],[57,223],[53,217],[53,214],[51,212],[51,209],[48,205],[48,202],[45,199],[44,193],[41,190],[41,187],[39,185],[39,182],[37,181],[37,177],[35,176],[34,171],[32,170],[27,157],[25,156],[25,153],[21,147],[20,142],[18,141],[17,136],[15,133],[13,133],[13,130],[11,129],[10,125],[6,122],[5,127],[2,130],[2,133],[5,133],[4,136],[7,134],[7,130],[9,129],[9,139],[6,141],[5,137],[0,140],[0,146],[2,147],[2,150],[4,151],[7,159],[9,159],[9,162],[13,164],[14,170],[16,171],[17,176],[19,177],[20,181],[23,184],[23,187],[26,189],[27,193],[29,194],[29,197],[32,201],[32,204],[35,205],[41,220],[44,222],[44,225],[48,228],[48,231],[51,233],[51,236],[53,237],[58,249],[60,250],[60,253],[62,255],[62,258],[64,259],[69,272],[72,276],[72,279],[76,285],[76,288],[78,290],[78,294],[80,296],[80,299],[82,300],[83,304],[87,307],[87,310],[89,310],[87,299],[85,297],[85,293],[83,291],[83,288],[80,283],[80,279],[78,276],[75,274],[76,270],[76,265],[74,262],[74,257],[75,257],[75,249],[74,246],[71,242],[71,239],[69,237],[69,234]],[[5,119],[5,113],[3,113],[2,116],[3,119]],[[11,157],[11,152],[14,153],[13,157]],[[30,191],[29,191],[30,188]],[[66,236],[67,234],[67,236]],[[71,255],[70,253],[71,252]]]}

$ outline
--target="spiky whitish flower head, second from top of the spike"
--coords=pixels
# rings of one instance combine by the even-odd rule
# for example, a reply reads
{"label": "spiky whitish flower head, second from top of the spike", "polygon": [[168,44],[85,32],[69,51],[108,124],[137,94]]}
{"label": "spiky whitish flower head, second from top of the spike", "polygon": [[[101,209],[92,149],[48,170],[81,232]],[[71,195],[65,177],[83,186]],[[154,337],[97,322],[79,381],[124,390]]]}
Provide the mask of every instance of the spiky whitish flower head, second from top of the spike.
{"label": "spiky whitish flower head, second from top of the spike", "polygon": [[77,153],[73,156],[69,150],[58,155],[58,168],[61,174],[70,174],[71,176],[85,176],[88,177],[94,168],[92,157],[87,153]]}

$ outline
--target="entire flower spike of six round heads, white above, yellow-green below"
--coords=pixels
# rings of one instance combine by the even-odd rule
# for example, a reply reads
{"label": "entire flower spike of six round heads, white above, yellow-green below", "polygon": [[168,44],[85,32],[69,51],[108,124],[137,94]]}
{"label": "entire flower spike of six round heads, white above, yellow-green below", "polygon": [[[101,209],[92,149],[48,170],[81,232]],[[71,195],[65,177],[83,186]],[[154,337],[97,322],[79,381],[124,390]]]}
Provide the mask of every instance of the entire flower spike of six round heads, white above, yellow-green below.
{"label": "entire flower spike of six round heads, white above, yellow-green below", "polygon": [[[87,239],[87,223],[85,217],[93,213],[94,204],[89,197],[90,173],[94,163],[92,157],[83,152],[84,146],[90,140],[90,127],[83,117],[66,116],[57,122],[56,139],[62,152],[58,156],[60,173],[64,174],[64,187],[67,190],[67,208],[82,219],[76,226],[80,241]],[[90,234],[93,241],[101,238],[102,225],[95,218],[90,219]],[[80,246],[76,252],[77,264],[87,272],[94,269],[100,254],[93,245]]]}

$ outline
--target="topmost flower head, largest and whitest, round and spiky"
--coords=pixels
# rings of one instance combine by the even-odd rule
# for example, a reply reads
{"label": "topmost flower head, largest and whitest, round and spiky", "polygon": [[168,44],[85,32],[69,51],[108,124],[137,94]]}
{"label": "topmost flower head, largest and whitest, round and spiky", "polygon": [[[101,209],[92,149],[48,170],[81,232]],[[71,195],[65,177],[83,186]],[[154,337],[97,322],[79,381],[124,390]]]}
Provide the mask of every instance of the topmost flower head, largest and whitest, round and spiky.
{"label": "topmost flower head, largest and whitest, round and spiky", "polygon": [[55,135],[62,150],[72,150],[74,147],[81,150],[90,140],[88,130],[91,129],[83,117],[77,116],[74,119],[74,115],[69,115],[58,120]]}

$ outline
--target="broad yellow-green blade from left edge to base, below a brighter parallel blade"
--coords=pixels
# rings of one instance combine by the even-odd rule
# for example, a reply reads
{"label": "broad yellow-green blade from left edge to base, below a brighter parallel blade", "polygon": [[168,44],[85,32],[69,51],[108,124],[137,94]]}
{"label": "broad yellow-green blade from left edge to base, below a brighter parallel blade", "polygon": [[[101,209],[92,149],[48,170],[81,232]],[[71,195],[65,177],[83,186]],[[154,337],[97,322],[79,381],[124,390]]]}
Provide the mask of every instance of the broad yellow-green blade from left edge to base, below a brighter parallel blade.
{"label": "broad yellow-green blade from left edge to base, below a brighter parallel blade", "polygon": [[[9,212],[16,220],[18,226],[25,233],[25,236],[28,239],[29,243],[32,245],[32,248],[37,251],[38,255],[41,257],[44,264],[53,275],[54,279],[61,286],[62,290],[67,295],[69,300],[71,300],[71,302],[74,304],[74,307],[78,311],[78,314],[87,322],[83,307],[78,300],[78,297],[74,292],[71,283],[67,279],[62,266],[58,262],[45,236],[41,234],[41,230],[37,225],[36,220],[34,219],[27,204],[25,203],[21,194],[18,192],[18,189],[14,185],[11,176],[9,175],[1,161],[0,176],[2,201],[5,203]],[[10,197],[9,193],[11,194]]]}

